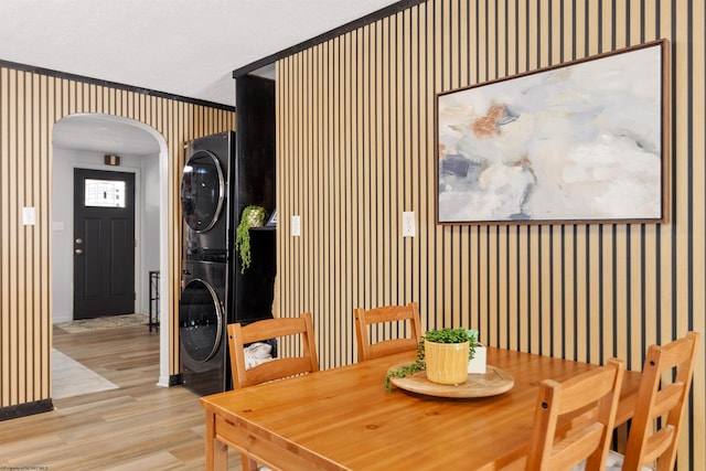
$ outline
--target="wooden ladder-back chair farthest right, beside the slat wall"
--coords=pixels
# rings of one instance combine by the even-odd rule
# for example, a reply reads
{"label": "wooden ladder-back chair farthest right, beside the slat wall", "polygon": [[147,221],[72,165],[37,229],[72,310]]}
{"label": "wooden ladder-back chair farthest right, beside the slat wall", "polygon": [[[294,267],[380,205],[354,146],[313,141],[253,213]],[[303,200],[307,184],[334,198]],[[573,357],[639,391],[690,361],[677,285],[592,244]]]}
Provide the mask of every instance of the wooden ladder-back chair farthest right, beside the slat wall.
{"label": "wooden ladder-back chair farthest right, beside the slat wall", "polygon": [[688,332],[667,345],[648,347],[625,456],[611,452],[611,468],[651,469],[656,461],[657,471],[674,469],[698,338]]}

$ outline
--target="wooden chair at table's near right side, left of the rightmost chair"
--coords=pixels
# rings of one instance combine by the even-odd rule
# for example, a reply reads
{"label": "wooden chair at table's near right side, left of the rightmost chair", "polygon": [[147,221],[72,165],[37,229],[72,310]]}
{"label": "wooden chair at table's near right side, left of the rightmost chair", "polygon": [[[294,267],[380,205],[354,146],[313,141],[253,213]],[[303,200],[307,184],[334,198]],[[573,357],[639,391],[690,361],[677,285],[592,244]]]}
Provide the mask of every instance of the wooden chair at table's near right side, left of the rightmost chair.
{"label": "wooden chair at table's near right side, left of the rightmost chair", "polygon": [[611,358],[563,383],[539,385],[526,470],[602,470],[613,431],[624,363]]}

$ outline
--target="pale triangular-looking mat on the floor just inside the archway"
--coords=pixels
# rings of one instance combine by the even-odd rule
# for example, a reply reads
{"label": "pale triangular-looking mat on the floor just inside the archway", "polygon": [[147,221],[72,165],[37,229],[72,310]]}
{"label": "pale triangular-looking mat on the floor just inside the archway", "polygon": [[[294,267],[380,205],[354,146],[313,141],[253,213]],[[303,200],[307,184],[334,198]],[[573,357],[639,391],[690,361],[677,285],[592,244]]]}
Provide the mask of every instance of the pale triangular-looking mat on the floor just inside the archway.
{"label": "pale triangular-looking mat on the floor just inside the archway", "polygon": [[52,349],[52,399],[117,389],[119,386]]}

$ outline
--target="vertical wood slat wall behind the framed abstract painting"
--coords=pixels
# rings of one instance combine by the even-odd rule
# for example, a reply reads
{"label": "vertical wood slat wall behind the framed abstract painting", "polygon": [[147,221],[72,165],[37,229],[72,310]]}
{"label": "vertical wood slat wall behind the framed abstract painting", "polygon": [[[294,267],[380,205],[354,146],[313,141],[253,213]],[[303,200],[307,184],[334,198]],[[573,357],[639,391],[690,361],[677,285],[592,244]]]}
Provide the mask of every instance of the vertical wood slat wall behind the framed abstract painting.
{"label": "vertical wood slat wall behind the framed abstract painting", "polygon": [[[688,0],[429,0],[279,61],[279,315],[313,313],[323,368],[355,361],[354,308],[408,301],[425,328],[638,371],[648,345],[704,332],[704,18]],[[662,38],[668,223],[435,224],[436,93]],[[700,350],[681,470],[705,462]]]}

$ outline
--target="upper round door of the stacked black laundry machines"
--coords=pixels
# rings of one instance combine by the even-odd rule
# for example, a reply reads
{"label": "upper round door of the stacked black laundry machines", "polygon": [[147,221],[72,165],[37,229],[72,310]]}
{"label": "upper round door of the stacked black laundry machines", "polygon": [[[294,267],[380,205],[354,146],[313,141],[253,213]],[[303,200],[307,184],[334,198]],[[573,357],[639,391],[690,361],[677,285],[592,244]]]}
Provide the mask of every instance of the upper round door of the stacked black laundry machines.
{"label": "upper round door of the stacked black laundry machines", "polygon": [[181,179],[181,208],[184,221],[202,233],[214,226],[225,197],[225,180],[218,159],[207,150],[189,158]]}

